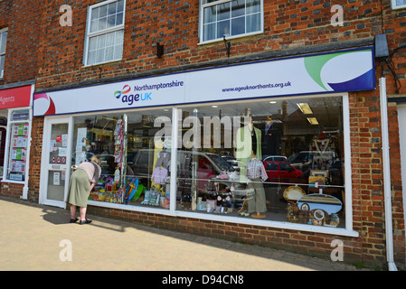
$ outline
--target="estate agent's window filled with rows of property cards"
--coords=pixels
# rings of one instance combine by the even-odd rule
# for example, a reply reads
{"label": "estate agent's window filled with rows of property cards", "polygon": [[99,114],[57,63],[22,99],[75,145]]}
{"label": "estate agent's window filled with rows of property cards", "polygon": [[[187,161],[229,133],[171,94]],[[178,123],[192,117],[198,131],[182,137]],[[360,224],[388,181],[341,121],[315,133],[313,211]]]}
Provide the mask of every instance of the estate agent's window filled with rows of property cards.
{"label": "estate agent's window filled with rows of property cards", "polygon": [[13,110],[10,113],[8,129],[10,144],[5,178],[24,182],[26,172],[28,138],[30,133],[30,110]]}

